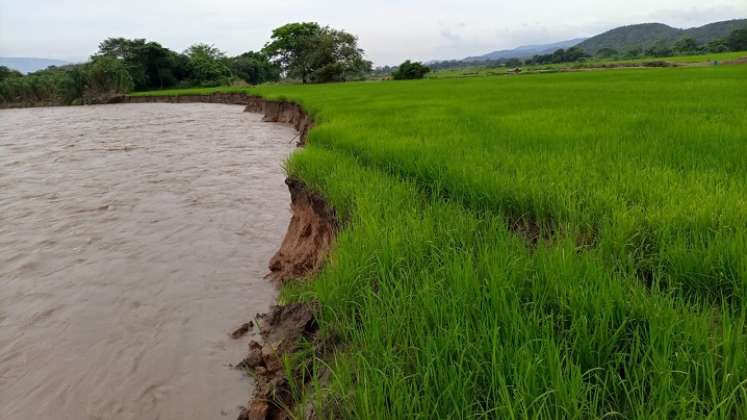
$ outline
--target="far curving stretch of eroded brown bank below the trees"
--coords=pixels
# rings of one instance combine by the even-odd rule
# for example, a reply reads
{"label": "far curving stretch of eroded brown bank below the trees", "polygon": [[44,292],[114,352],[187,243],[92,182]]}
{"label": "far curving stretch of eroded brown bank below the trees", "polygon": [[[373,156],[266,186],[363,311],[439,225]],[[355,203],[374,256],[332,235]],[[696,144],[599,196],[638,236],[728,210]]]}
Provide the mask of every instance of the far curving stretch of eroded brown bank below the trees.
{"label": "far curving stretch of eroded brown bank below the trees", "polygon": [[271,101],[259,96],[245,93],[213,93],[210,95],[182,95],[182,96],[120,96],[112,100],[127,103],[194,103],[206,102],[217,104],[246,105],[246,112],[256,112],[264,115],[265,122],[290,124],[298,131],[298,145],[306,143],[309,130],[314,127],[314,121],[300,105],[287,101]]}

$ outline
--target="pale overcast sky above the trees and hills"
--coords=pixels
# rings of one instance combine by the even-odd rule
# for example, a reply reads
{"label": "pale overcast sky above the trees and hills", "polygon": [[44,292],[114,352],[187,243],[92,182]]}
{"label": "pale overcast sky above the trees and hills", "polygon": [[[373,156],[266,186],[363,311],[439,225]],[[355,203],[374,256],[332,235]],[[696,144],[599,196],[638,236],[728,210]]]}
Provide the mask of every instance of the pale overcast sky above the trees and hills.
{"label": "pale overcast sky above the trees and hills", "polygon": [[747,0],[0,0],[0,56],[78,61],[112,36],[181,51],[195,42],[256,50],[272,28],[316,21],[359,36],[377,65],[462,58],[590,36],[747,17]]}

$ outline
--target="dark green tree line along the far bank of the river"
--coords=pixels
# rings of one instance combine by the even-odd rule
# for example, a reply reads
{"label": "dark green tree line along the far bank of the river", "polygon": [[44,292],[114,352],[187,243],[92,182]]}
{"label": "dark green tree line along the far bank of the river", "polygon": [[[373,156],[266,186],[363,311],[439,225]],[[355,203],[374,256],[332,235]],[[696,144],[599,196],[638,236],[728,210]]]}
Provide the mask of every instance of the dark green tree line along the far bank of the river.
{"label": "dark green tree line along the far bank of the river", "polygon": [[315,22],[283,25],[260,51],[233,57],[205,43],[179,53],[145,39],[109,38],[86,63],[28,75],[0,66],[0,103],[100,103],[132,90],[281,79],[325,83],[361,79],[370,71],[356,36]]}

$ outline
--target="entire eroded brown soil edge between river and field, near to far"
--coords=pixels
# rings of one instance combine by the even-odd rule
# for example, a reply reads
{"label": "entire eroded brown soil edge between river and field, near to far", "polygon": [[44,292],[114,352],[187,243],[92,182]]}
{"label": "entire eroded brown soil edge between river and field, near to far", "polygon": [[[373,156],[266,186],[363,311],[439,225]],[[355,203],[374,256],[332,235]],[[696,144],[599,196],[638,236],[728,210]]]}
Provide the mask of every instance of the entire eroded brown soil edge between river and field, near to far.
{"label": "entire eroded brown soil edge between river and field, near to far", "polygon": [[[296,145],[306,143],[314,121],[298,104],[272,101],[243,93],[214,93],[183,96],[124,96],[113,103],[219,103],[245,105],[245,112],[263,114],[263,121],[289,124],[298,132]],[[282,285],[303,280],[321,270],[334,243],[340,223],[332,207],[319,194],[299,179],[289,177],[286,185],[291,195],[291,220],[280,248],[268,264],[267,278]],[[318,343],[313,305],[274,305],[269,312],[258,316],[262,343],[252,340],[247,357],[238,366],[254,373],[254,395],[242,411],[239,420],[287,419],[297,401],[291,392],[291,380],[305,375],[309,360],[292,367],[288,378],[283,368],[283,357],[299,350],[303,342],[310,342],[321,354],[329,346]],[[313,413],[306,413],[307,417]]]}

